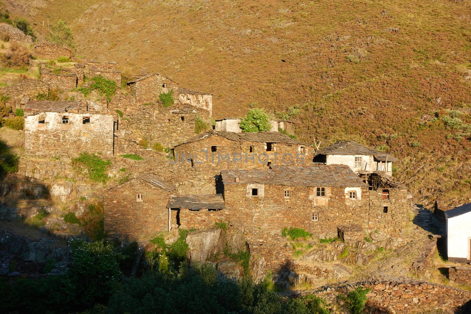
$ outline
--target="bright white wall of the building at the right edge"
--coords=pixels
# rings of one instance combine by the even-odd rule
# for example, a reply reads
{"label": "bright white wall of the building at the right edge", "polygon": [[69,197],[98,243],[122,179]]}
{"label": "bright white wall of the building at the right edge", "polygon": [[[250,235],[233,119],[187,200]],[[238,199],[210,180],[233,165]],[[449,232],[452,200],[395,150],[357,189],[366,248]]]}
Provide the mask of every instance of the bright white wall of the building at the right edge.
{"label": "bright white wall of the building at the right edge", "polygon": [[470,259],[471,212],[447,219],[448,258]]}

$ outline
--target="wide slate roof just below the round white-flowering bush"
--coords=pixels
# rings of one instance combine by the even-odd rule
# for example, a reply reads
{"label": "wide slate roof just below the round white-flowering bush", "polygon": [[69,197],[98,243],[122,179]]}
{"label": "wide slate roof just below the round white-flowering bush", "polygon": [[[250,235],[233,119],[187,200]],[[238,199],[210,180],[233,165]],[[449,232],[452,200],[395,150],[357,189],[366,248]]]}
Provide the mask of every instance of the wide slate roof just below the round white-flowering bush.
{"label": "wide slate roof just below the round white-flowering bush", "polygon": [[311,146],[309,144],[300,142],[297,139],[284,135],[281,132],[251,132],[251,133],[241,132],[239,133],[239,132],[227,132],[227,131],[210,131],[210,132],[202,133],[202,134],[197,135],[196,137],[190,138],[189,140],[187,140],[187,142],[184,142],[182,144],[192,143],[192,142],[199,141],[204,138],[211,137],[211,136],[225,137],[228,140],[239,141],[239,142],[285,143],[285,144],[298,144],[298,145]]}

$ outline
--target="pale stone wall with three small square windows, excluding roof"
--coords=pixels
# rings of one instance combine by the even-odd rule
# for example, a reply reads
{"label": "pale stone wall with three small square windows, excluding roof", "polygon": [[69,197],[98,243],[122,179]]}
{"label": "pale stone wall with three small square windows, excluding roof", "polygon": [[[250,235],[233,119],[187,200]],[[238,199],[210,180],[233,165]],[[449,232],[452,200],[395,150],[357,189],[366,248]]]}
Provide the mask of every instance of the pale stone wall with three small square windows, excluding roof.
{"label": "pale stone wall with three small square windows, excluding roof", "polygon": [[[62,123],[68,116],[69,123]],[[90,117],[89,124],[82,118]],[[39,123],[44,120],[45,123]],[[77,156],[82,152],[113,154],[113,116],[97,113],[38,113],[24,118],[25,153]]]}

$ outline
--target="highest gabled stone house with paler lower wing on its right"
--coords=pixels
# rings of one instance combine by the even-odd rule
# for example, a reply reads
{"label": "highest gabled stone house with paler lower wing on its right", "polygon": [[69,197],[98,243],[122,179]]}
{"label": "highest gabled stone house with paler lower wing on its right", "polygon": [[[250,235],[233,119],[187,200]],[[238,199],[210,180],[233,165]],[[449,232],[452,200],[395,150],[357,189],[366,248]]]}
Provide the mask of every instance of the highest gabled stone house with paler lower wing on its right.
{"label": "highest gabled stone house with paler lower wing on its right", "polygon": [[212,115],[212,94],[180,88],[179,84],[159,73],[143,75],[136,80],[129,81],[127,85],[130,93],[136,97],[138,104],[159,100],[162,93],[173,90],[173,98],[180,104],[201,108]]}

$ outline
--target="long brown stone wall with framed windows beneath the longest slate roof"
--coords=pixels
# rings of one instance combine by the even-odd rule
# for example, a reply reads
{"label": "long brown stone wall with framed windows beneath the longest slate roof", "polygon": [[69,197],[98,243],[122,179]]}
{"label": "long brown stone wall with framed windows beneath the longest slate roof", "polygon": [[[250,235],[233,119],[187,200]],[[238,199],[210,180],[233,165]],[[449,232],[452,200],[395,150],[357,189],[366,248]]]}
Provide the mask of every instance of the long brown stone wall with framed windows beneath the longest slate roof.
{"label": "long brown stone wall with framed windows beneath the longest slate roof", "polygon": [[[335,237],[337,226],[358,224],[366,229],[368,224],[368,190],[361,188],[361,199],[349,200],[343,187],[325,187],[326,196],[317,197],[316,188],[308,186],[261,186],[259,195],[248,196],[252,185],[224,186],[224,199],[231,221],[240,220],[244,227],[262,228],[280,233],[284,227],[303,228],[315,236]],[[290,198],[284,198],[289,189]],[[318,221],[312,221],[312,214]]]}

